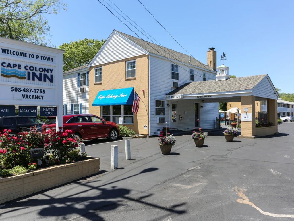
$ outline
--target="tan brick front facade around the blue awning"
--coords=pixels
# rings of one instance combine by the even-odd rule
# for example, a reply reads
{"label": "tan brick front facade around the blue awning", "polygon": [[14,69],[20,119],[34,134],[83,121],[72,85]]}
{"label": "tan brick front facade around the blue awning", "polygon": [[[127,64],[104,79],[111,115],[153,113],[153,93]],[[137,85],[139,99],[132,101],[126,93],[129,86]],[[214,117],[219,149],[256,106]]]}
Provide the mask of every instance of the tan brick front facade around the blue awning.
{"label": "tan brick front facade around the blue awning", "polygon": [[[126,61],[136,60],[136,77],[126,79]],[[102,83],[94,84],[94,69],[102,67]],[[134,114],[134,124],[126,125],[137,134],[149,134],[149,62],[148,55],[140,55],[127,59],[109,62],[89,68],[89,113],[101,116],[99,106],[92,106],[97,94],[101,90],[133,87],[140,96],[140,107]],[[142,92],[144,90],[144,92]],[[146,105],[144,105],[144,104]],[[144,125],[147,129],[144,129]]]}

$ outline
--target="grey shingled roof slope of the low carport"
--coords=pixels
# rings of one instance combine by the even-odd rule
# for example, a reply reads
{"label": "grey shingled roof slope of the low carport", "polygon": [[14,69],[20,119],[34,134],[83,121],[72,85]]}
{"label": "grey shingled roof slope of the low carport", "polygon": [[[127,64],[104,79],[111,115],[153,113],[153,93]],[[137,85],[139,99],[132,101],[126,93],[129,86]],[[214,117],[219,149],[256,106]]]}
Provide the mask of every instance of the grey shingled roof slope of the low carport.
{"label": "grey shingled roof slope of the low carport", "polygon": [[235,77],[228,80],[196,81],[183,84],[166,95],[202,94],[238,90],[252,90],[266,75]]}

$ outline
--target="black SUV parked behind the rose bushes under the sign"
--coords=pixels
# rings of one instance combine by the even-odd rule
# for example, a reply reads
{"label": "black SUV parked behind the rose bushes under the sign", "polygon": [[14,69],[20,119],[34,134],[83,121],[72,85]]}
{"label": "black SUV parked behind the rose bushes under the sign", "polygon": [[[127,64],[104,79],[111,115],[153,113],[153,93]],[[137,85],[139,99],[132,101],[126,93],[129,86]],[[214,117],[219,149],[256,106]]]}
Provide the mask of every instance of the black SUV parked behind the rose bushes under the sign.
{"label": "black SUV parked behind the rose bushes under the sign", "polygon": [[27,131],[28,128],[36,126],[41,128],[44,121],[38,117],[31,116],[10,116],[10,117],[0,117],[0,131],[4,129],[10,129],[11,135],[17,135],[21,131]]}

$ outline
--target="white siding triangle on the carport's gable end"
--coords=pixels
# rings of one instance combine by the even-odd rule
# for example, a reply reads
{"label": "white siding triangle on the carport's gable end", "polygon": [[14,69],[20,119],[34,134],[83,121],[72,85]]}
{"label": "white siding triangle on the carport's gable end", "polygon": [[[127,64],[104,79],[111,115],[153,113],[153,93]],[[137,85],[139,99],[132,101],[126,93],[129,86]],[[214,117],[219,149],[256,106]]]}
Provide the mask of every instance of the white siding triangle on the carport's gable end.
{"label": "white siding triangle on the carport's gable end", "polygon": [[270,98],[277,100],[275,90],[272,88],[267,77],[263,78],[252,90],[252,95],[261,97],[261,98]]}

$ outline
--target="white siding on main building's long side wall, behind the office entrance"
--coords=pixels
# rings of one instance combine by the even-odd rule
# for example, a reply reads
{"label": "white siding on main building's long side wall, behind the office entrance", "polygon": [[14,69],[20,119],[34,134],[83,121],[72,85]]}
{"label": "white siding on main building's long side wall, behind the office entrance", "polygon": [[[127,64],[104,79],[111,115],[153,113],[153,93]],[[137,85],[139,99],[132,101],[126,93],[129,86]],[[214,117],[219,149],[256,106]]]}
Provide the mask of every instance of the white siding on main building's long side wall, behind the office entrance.
{"label": "white siding on main building's long side wall, behind the office entrance", "polygon": [[[157,130],[161,129],[165,126],[165,123],[156,123],[156,118],[160,116],[155,115],[155,100],[165,100],[165,94],[171,92],[174,88],[172,88],[172,82],[178,82],[178,86],[183,85],[184,83],[191,82],[190,80],[190,68],[183,65],[182,63],[177,63],[179,65],[179,80],[171,79],[171,62],[165,59],[161,59],[156,56],[149,56],[150,62],[150,135],[157,134]],[[181,68],[181,67],[183,68]],[[212,80],[215,79],[215,75],[213,73],[209,73],[206,71],[202,71],[195,67],[191,67],[194,70],[194,81],[202,81],[202,72],[206,73],[206,79]],[[183,120],[178,120],[178,129],[179,130],[192,130],[194,127],[194,102],[195,100],[179,100],[178,101],[178,115],[182,114],[183,112]],[[170,123],[170,108],[167,106],[167,103],[170,101],[165,102],[165,121],[168,122],[167,125],[169,126]],[[207,114],[205,116],[205,122],[203,124],[203,128],[215,128],[215,123],[213,124],[212,121],[215,122],[215,118],[218,114],[218,103],[213,104],[212,106],[208,103],[203,105],[207,107]],[[210,107],[213,107],[210,109]],[[217,108],[215,108],[217,107]],[[204,108],[201,108],[203,112]],[[214,110],[216,109],[216,110]],[[184,114],[184,110],[187,110],[187,114]],[[205,109],[206,110],[206,109]],[[211,115],[212,111],[213,115]],[[211,116],[210,116],[211,115]],[[163,116],[162,116],[163,117]],[[213,124],[213,125],[212,125]],[[205,127],[204,127],[205,126]],[[189,129],[187,129],[189,128]]]}

